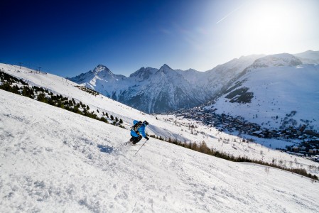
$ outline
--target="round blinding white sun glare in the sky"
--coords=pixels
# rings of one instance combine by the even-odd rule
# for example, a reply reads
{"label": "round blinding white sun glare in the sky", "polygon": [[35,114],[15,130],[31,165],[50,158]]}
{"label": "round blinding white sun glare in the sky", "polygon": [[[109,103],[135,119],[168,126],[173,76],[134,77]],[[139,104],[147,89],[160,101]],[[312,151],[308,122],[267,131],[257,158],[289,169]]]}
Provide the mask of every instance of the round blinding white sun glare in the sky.
{"label": "round blinding white sun glare in the sky", "polygon": [[276,53],[298,36],[300,24],[293,6],[283,1],[256,1],[242,10],[236,36],[240,48],[251,53]]}

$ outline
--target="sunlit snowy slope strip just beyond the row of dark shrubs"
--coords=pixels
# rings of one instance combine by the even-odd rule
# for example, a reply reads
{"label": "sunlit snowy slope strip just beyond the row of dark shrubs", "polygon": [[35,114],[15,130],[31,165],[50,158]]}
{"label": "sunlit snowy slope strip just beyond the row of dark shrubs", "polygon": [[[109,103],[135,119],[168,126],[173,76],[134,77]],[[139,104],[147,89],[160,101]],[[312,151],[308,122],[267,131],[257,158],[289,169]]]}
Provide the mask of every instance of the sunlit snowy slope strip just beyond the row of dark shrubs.
{"label": "sunlit snowy slope strip just beyond the row of dark shrubs", "polygon": [[[136,109],[132,109],[124,104],[116,102],[112,99],[104,97],[102,95],[93,96],[87,92],[83,92],[75,87],[77,84],[65,80],[62,77],[56,75],[50,75],[48,73],[36,72],[26,67],[18,67],[12,65],[0,64],[0,69],[26,80],[29,84],[37,85],[38,87],[44,87],[49,89],[54,94],[62,94],[64,97],[74,98],[77,102],[82,102],[90,106],[90,109],[96,111],[99,109],[99,116],[102,116],[102,111],[117,116],[124,121],[126,129],[129,129],[134,119],[147,120],[150,125],[147,128],[149,134],[155,134],[156,136],[162,136],[163,138],[178,139],[186,143],[201,143],[205,141],[207,146],[212,147],[218,151],[229,153],[235,156],[247,156],[249,158],[264,160],[271,163],[273,159],[282,160],[286,166],[291,160],[296,157],[281,153],[279,151],[269,150],[271,148],[285,148],[286,145],[293,145],[293,142],[279,141],[279,140],[266,140],[261,138],[255,138],[256,142],[263,144],[264,146],[255,146],[254,143],[242,143],[242,138],[237,136],[230,136],[227,133],[221,133],[215,128],[208,128],[197,124],[195,121],[189,121],[187,119],[176,118],[175,116],[152,116],[145,114]],[[159,72],[161,74],[161,72]],[[190,126],[197,126],[195,129],[190,129]],[[129,134],[126,135],[126,140],[129,138]],[[261,154],[262,153],[262,154]],[[308,170],[308,172],[318,175],[316,171],[309,170],[309,165],[317,165],[317,163],[307,160],[305,158],[298,159],[298,163]],[[293,167],[298,165],[293,164]]]}

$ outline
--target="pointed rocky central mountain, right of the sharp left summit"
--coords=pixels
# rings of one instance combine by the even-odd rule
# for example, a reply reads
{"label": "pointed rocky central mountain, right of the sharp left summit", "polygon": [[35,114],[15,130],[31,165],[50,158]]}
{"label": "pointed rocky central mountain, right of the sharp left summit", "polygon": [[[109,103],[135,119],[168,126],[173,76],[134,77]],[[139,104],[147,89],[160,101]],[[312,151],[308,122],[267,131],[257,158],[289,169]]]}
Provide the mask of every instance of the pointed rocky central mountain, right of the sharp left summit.
{"label": "pointed rocky central mountain, right of the sharp left summit", "polygon": [[159,70],[142,68],[127,81],[134,85],[119,94],[119,102],[148,113],[195,107],[205,101],[205,92],[168,65]]}

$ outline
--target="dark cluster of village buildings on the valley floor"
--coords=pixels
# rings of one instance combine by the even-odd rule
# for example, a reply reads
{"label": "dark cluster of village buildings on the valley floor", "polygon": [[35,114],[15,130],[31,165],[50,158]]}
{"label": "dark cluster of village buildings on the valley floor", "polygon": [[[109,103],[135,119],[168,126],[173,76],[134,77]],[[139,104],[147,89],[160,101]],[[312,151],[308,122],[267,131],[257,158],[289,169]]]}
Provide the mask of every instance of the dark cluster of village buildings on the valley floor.
{"label": "dark cluster of village buildings on the valley floor", "polygon": [[214,126],[220,131],[237,133],[237,136],[245,134],[258,138],[293,141],[292,146],[277,149],[293,155],[305,156],[310,160],[319,162],[319,133],[307,129],[306,125],[299,128],[288,126],[285,129],[266,129],[259,126],[259,124],[245,121],[241,116],[234,118],[227,114],[216,114],[215,111],[216,109],[194,107],[191,109],[179,109],[174,114],[176,116],[183,116],[185,119],[200,121],[207,126]]}

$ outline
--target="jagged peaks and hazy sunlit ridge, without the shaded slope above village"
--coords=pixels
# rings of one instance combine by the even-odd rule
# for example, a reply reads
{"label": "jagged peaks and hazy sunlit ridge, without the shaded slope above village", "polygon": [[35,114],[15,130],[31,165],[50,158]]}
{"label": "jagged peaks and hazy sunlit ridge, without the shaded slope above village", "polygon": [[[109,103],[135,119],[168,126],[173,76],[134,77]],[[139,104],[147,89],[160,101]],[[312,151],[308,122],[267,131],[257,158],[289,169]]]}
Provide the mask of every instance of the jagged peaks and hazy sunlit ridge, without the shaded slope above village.
{"label": "jagged peaks and hazy sunlit ridge, without the shaded slope above village", "polygon": [[319,51],[308,50],[295,55],[242,56],[206,72],[173,70],[163,65],[160,69],[141,67],[125,77],[98,65],[94,70],[67,79],[141,111],[162,113],[212,102],[232,92],[235,85],[234,88],[239,87],[237,80],[255,69],[267,68],[264,71],[269,72],[274,67],[286,67],[293,70],[298,65],[318,62]]}

